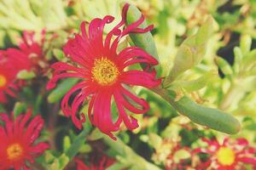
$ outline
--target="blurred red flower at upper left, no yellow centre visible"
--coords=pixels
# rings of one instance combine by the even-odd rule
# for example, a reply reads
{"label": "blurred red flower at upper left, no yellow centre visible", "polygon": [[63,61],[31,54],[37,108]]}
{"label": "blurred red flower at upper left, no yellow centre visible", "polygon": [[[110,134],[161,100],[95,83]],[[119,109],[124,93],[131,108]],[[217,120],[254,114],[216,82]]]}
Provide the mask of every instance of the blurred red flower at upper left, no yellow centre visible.
{"label": "blurred red flower at upper left, no yellow centre visible", "polygon": [[15,67],[19,70],[34,71],[38,74],[46,67],[44,59],[45,30],[41,33],[41,41],[35,40],[35,32],[23,31],[19,48],[8,48],[6,53],[10,59],[15,60]]}

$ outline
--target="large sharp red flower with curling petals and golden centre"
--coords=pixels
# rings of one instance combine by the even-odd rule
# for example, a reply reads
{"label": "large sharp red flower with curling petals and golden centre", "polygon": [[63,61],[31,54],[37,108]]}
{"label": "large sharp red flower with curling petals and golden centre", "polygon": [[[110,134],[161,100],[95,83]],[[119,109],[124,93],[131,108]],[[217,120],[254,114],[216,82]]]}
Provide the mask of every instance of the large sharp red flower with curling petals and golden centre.
{"label": "large sharp red flower with curling petals and golden centre", "polygon": [[[111,23],[113,16],[107,15],[103,19],[96,18],[90,22],[89,31],[85,30],[85,22],[80,26],[81,34],[68,40],[64,47],[64,53],[73,61],[73,65],[57,62],[52,65],[55,69],[54,75],[48,83],[48,89],[55,88],[56,82],[61,78],[77,77],[82,79],[64,96],[61,101],[61,109],[66,116],[71,116],[73,123],[79,129],[82,128],[84,115],[79,119],[76,116],[79,106],[83,105],[85,99],[90,99],[88,116],[90,122],[98,127],[103,133],[115,139],[112,132],[119,130],[121,122],[132,130],[138,127],[137,120],[128,116],[125,110],[137,114],[148,111],[148,103],[138,98],[127,88],[129,85],[154,88],[160,85],[160,79],[155,77],[155,71],[126,70],[129,65],[145,63],[158,65],[158,61],[143,49],[128,47],[117,53],[120,39],[129,33],[142,33],[150,31],[153,26],[145,29],[138,28],[143,23],[143,16],[126,26],[125,19],[129,4],[125,4],[122,10],[122,20],[112,31],[103,38],[103,29],[106,24]],[[114,39],[113,39],[114,37]],[[113,39],[113,42],[112,42]],[[73,102],[71,96],[75,94]],[[111,111],[112,102],[117,105],[119,116],[113,121]]]}

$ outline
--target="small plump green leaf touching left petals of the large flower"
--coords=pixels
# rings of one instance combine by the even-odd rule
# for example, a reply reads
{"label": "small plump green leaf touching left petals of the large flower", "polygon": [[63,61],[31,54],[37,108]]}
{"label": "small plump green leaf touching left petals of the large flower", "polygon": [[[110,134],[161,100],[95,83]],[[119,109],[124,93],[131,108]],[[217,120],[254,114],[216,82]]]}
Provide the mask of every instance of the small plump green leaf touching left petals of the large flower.
{"label": "small plump green leaf touching left petals of the large flower", "polygon": [[61,82],[57,88],[55,88],[48,96],[49,103],[55,103],[57,101],[60,101],[61,98],[67,94],[67,91],[70,90],[77,82],[79,82],[79,79],[77,78],[67,78],[63,82]]}

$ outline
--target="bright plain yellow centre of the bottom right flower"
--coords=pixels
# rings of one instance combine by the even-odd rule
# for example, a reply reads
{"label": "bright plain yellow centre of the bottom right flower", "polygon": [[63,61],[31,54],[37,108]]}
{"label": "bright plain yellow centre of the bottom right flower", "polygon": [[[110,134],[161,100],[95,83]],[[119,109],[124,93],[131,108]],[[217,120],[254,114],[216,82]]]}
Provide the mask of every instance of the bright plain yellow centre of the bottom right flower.
{"label": "bright plain yellow centre of the bottom right flower", "polygon": [[236,159],[236,154],[233,150],[227,147],[220,147],[217,151],[217,159],[221,165],[230,166]]}

